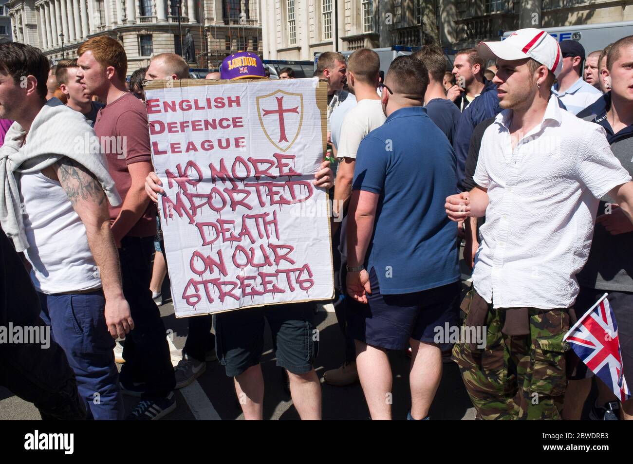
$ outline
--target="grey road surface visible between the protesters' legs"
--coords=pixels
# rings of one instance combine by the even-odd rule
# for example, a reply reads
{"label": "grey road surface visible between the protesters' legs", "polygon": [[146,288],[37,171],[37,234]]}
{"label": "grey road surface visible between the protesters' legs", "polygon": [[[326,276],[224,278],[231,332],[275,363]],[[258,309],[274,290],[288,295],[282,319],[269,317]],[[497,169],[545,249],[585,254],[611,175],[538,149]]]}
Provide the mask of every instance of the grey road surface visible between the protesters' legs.
{"label": "grey road surface visible between the protesters' legs", "polygon": [[[466,269],[461,261],[462,270]],[[463,273],[467,279],[467,273]],[[165,287],[163,287],[165,288]],[[171,303],[160,307],[166,329],[173,331],[170,342],[175,351],[181,349],[187,337],[187,319],[177,319]],[[341,365],[344,352],[344,341],[339,329],[332,304],[320,305],[316,315],[319,330],[319,352],[315,369],[319,378],[323,372]],[[168,338],[169,340],[169,338]],[[393,384],[393,417],[406,418],[410,406],[408,382],[409,358],[404,351],[389,353],[394,373]],[[173,362],[174,364],[176,361]],[[264,353],[261,358],[266,390],[264,395],[265,419],[298,420],[299,415],[292,407],[292,399],[284,390],[282,368],[275,363],[272,341],[268,325]],[[369,412],[360,384],[348,387],[332,387],[322,381],[323,419],[329,420],[365,420]],[[138,398],[125,396],[126,410],[130,411],[138,403]],[[235,396],[232,379],[224,373],[224,368],[213,361],[207,363],[206,372],[190,386],[177,390],[177,409],[164,420],[240,420],[243,418],[241,408]],[[461,381],[458,367],[454,363],[444,364],[442,381],[436,399],[430,410],[434,420],[474,419],[475,409]],[[0,387],[0,420],[39,420],[39,412],[30,403],[23,401],[3,387]]]}

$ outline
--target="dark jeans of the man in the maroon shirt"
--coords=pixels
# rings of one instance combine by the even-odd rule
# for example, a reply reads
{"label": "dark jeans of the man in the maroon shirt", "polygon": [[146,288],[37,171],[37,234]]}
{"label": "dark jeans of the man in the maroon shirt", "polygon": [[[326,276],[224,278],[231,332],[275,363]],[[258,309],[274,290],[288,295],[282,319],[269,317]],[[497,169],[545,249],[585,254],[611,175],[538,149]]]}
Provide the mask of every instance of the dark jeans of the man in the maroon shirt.
{"label": "dark jeans of the man in the maroon shirt", "polygon": [[146,398],[164,398],[176,386],[165,324],[149,290],[154,237],[123,237],[119,249],[123,296],[130,304],[134,330],[125,337],[123,384],[146,384]]}

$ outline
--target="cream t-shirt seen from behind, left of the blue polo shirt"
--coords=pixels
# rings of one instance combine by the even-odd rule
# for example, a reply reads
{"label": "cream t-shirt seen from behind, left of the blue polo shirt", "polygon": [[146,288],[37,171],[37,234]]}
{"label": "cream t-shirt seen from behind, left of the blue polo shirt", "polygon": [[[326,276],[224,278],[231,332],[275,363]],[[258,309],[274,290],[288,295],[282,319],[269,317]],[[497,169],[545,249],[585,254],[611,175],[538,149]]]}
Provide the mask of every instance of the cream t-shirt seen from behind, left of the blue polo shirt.
{"label": "cream t-shirt seen from behind, left of the blue polo shirt", "polygon": [[341,137],[337,148],[337,158],[354,158],[360,142],[367,134],[378,129],[387,116],[382,111],[380,100],[361,100],[348,111],[341,126]]}

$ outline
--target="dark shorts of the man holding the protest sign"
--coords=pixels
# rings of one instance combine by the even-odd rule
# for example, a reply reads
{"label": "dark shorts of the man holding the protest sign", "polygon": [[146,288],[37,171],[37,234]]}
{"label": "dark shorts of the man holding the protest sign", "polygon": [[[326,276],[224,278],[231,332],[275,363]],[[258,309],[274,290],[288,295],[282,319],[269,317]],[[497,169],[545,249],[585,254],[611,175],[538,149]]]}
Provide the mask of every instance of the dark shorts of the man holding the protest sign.
{"label": "dark shorts of the man holding the protest sign", "polygon": [[292,373],[307,373],[318,352],[314,302],[287,303],[229,311],[213,317],[215,349],[229,377],[260,363],[264,348],[264,318],[273,337],[277,365]]}

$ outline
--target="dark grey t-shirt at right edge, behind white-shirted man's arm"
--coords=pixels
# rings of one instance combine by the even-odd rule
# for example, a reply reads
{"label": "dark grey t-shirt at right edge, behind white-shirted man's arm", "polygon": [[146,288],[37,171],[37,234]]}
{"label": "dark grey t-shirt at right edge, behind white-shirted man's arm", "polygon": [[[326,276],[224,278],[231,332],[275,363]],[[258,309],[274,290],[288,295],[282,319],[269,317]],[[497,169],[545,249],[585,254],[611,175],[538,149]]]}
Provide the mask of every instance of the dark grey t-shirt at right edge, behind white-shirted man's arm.
{"label": "dark grey t-shirt at right edge, behind white-shirted man's arm", "polygon": [[[579,113],[580,115],[580,113]],[[611,151],[622,166],[633,175],[633,127],[629,126],[613,134],[604,115],[584,118],[605,128]],[[615,201],[605,196],[600,199],[598,216],[606,212],[606,204]],[[577,274],[578,283],[584,287],[605,291],[633,292],[633,232],[611,235],[601,224],[594,229],[591,251],[587,264]]]}

